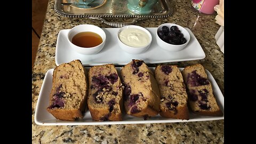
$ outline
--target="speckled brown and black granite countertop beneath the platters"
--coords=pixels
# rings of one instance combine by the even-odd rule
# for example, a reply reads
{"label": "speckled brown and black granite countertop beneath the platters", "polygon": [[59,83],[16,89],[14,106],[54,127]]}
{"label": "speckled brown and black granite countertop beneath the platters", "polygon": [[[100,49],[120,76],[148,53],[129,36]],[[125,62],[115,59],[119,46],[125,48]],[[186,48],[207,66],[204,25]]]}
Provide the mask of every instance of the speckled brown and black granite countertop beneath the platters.
{"label": "speckled brown and black granite countertop beneath the platters", "polygon": [[[167,0],[168,1],[168,0]],[[189,28],[198,39],[205,59],[171,62],[185,67],[201,63],[215,78],[224,93],[224,54],[215,41],[220,26],[215,15],[200,14],[191,9],[190,0],[173,0],[174,13],[167,18],[137,22],[142,27],[157,27],[162,23],[177,23]],[[60,30],[81,24],[109,28],[98,20],[66,18],[53,11],[54,0],[49,0],[46,17],[32,71],[32,142],[33,143],[224,143],[224,121],[204,121],[159,124],[120,124],[89,126],[41,126],[34,121],[36,102],[47,70],[55,68],[55,47]],[[116,19],[107,19],[116,21]],[[127,19],[119,19],[126,21]],[[129,20],[128,20],[129,21]],[[131,21],[131,20],[130,20]],[[156,65],[152,65],[156,66]]]}

